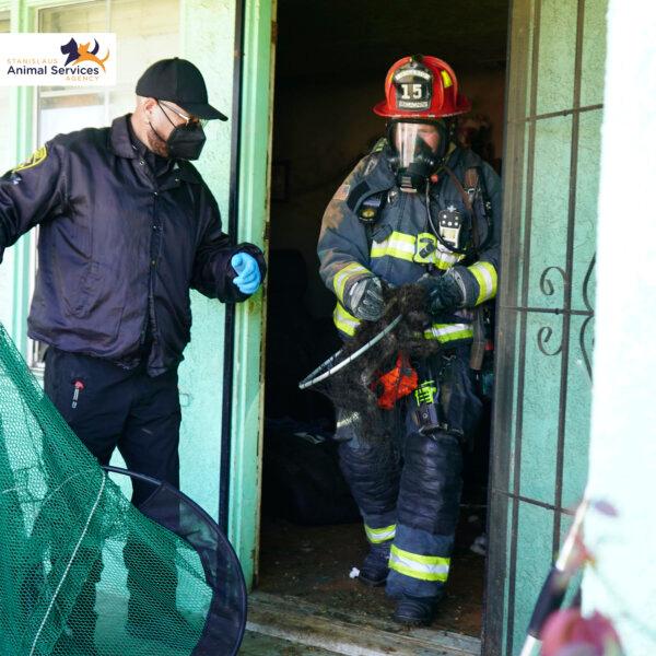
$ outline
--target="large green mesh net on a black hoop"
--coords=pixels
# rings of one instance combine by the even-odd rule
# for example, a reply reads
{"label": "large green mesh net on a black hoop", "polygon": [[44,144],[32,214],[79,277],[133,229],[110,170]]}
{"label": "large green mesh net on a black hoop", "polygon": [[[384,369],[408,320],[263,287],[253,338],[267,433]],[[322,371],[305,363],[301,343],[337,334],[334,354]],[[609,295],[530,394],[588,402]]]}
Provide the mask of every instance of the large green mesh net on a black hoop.
{"label": "large green mesh net on a black hoop", "polygon": [[246,593],[234,551],[186,496],[139,478],[152,485],[140,511],[0,326],[0,656],[237,652]]}

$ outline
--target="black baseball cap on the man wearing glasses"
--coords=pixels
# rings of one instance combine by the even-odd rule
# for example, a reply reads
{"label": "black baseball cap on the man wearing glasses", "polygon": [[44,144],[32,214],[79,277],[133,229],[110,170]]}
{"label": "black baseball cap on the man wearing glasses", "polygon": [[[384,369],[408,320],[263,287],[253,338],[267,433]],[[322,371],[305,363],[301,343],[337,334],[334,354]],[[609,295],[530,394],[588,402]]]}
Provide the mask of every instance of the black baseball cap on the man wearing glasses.
{"label": "black baseball cap on the man wearing glasses", "polygon": [[139,78],[137,95],[175,103],[198,118],[227,120],[227,116],[208,103],[202,74],[186,59],[155,61]]}

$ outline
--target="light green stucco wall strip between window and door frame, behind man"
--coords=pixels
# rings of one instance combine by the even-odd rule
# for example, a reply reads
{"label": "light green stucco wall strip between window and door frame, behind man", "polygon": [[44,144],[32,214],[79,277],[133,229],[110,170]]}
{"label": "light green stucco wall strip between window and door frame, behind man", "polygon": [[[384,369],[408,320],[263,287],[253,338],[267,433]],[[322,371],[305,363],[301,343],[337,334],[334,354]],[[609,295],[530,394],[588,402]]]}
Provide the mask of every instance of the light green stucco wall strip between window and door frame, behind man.
{"label": "light green stucco wall strip between window and door frame, behind man", "polygon": [[[184,0],[180,7],[183,57],[202,71],[210,101],[232,119],[235,44],[234,0]],[[198,168],[227,222],[232,122],[208,125]],[[191,293],[191,342],[179,370],[183,426],[180,487],[214,518],[219,509],[219,458],[223,395],[225,312],[216,301]]]}

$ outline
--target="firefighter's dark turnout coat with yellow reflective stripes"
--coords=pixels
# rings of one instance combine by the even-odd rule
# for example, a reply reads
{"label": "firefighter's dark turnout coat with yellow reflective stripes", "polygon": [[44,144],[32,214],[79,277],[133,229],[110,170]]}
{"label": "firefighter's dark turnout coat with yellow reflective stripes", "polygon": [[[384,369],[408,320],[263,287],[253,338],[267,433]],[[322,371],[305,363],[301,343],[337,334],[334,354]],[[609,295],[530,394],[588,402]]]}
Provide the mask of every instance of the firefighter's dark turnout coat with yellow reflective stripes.
{"label": "firefighter's dark turnout coat with yellow reflective stripes", "polygon": [[[501,239],[501,180],[492,167],[470,150],[456,149],[448,159],[455,177],[465,185],[467,169],[478,171],[475,207],[482,216],[484,188],[490,202],[488,214],[491,231],[478,222],[479,243],[484,248],[476,261],[452,253],[430,232],[426,222],[425,198],[422,194],[399,191],[389,165],[389,147],[377,147],[363,157],[332,200],[328,203],[321,223],[317,251],[320,274],[326,286],[337,296],[335,324],[344,337],[353,336],[362,323],[345,307],[348,290],[362,278],[375,276],[394,285],[415,282],[429,267],[446,271],[457,268],[466,285],[464,308],[454,314],[453,321],[434,323],[426,327],[424,337],[442,343],[471,341],[472,313],[468,308],[485,303],[496,295]],[[359,190],[365,191],[359,195]],[[387,202],[373,226],[371,244],[366,229],[358,218],[358,210],[370,196],[385,192]],[[355,207],[352,194],[359,195]],[[461,195],[446,173],[431,186],[432,215],[441,210],[458,210],[470,222]],[[471,226],[470,226],[471,229]],[[490,232],[490,234],[488,234]],[[433,248],[426,249],[427,245]],[[423,255],[423,254],[426,255]]]}

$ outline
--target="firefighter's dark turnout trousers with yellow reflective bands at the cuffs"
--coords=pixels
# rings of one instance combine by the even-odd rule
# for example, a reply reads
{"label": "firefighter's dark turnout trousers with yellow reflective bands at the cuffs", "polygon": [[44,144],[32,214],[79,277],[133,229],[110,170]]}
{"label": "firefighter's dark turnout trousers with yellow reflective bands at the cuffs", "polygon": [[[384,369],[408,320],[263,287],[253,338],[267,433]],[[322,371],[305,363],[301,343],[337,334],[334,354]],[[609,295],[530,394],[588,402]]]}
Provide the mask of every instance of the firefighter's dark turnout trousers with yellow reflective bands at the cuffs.
{"label": "firefighter's dark turnout trousers with yellow reflective bands at the cuffs", "polygon": [[[427,365],[427,366],[426,366]],[[480,419],[468,349],[418,363],[430,385],[386,412],[395,438],[367,442],[366,426],[338,421],[340,465],[373,547],[389,548],[387,594],[437,598],[448,578],[458,522],[462,444]],[[424,376],[425,377],[425,376]],[[426,393],[429,390],[429,394]],[[417,410],[433,406],[440,427],[426,430]],[[338,410],[338,420],[342,413]]]}

